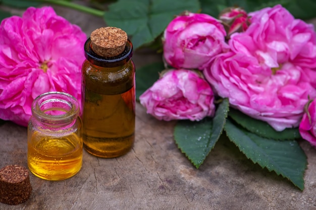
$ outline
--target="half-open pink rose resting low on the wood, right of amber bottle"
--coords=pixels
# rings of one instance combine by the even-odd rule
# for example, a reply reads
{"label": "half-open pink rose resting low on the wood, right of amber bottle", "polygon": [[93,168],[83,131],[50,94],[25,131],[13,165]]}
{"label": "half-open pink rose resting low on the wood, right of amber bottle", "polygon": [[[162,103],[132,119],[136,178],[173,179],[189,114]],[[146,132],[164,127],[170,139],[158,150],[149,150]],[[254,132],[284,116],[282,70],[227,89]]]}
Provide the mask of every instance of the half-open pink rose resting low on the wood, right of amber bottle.
{"label": "half-open pink rose resting low on the wood, right of amber bottle", "polygon": [[140,97],[140,103],[159,120],[198,121],[215,112],[209,84],[187,69],[171,69]]}

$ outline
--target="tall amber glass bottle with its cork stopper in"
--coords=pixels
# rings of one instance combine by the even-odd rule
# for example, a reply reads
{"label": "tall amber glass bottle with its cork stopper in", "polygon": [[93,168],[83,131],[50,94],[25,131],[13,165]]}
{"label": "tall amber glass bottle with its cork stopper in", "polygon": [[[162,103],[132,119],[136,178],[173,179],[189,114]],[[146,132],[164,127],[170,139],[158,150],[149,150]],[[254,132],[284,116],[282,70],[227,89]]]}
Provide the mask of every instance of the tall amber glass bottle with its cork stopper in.
{"label": "tall amber glass bottle with its cork stopper in", "polygon": [[134,143],[135,65],[133,45],[124,33],[115,27],[96,29],[84,45],[83,146],[102,158],[122,156]]}

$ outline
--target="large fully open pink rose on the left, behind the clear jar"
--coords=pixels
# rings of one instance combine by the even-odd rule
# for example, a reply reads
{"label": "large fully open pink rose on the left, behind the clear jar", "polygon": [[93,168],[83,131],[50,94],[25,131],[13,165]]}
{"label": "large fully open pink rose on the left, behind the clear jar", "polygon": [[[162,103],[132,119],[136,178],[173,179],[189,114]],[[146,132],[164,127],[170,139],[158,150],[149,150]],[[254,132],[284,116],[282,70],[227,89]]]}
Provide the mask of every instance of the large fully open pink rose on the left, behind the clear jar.
{"label": "large fully open pink rose on the left, behind the clear jar", "polygon": [[28,8],[0,25],[0,118],[27,126],[31,103],[48,91],[81,101],[86,35],[50,7]]}

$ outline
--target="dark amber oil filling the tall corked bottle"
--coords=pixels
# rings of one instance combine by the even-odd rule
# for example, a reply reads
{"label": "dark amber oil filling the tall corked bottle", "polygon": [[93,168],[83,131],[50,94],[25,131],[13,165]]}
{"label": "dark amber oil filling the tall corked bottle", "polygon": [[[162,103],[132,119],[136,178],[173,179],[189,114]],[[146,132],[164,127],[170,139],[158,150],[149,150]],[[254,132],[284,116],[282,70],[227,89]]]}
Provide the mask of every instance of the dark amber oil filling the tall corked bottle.
{"label": "dark amber oil filling the tall corked bottle", "polygon": [[134,143],[135,87],[122,94],[99,94],[85,88],[84,147],[103,158],[127,153]]}

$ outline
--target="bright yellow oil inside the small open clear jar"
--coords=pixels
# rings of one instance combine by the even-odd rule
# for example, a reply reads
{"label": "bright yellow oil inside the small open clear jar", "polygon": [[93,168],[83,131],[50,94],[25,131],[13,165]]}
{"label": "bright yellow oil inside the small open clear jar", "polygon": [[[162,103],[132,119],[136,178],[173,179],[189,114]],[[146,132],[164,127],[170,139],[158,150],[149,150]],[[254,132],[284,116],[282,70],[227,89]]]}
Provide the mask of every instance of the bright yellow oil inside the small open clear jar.
{"label": "bright yellow oil inside the small open clear jar", "polygon": [[28,136],[28,167],[42,179],[63,180],[74,176],[82,166],[82,139],[78,134],[35,131]]}

